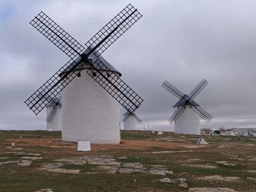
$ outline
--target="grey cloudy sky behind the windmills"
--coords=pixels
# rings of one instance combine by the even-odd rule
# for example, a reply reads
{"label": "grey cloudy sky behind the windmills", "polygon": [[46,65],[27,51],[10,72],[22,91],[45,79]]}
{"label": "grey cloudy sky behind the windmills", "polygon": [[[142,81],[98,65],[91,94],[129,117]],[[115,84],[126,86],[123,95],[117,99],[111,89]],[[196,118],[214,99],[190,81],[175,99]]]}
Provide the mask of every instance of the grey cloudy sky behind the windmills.
{"label": "grey cloudy sky behind the windmills", "polygon": [[254,0],[0,0],[0,129],[45,129],[45,111],[24,101],[69,58],[29,22],[41,10],[84,44],[132,3],[143,14],[103,56],[144,101],[139,126],[172,129],[177,99],[165,80],[189,93],[214,118],[202,128],[256,127]]}

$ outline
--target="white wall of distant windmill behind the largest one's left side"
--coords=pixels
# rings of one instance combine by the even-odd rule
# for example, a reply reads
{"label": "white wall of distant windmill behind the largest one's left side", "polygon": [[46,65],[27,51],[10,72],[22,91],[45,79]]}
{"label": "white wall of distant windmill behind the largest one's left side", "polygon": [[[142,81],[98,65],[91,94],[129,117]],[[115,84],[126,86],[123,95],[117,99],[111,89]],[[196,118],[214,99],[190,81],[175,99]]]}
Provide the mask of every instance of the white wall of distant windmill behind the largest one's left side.
{"label": "white wall of distant windmill behind the largest one's left side", "polygon": [[[58,106],[57,106],[58,107]],[[46,118],[52,107],[46,107]],[[61,107],[58,107],[56,114],[51,122],[46,122],[46,129],[48,131],[61,131]]]}

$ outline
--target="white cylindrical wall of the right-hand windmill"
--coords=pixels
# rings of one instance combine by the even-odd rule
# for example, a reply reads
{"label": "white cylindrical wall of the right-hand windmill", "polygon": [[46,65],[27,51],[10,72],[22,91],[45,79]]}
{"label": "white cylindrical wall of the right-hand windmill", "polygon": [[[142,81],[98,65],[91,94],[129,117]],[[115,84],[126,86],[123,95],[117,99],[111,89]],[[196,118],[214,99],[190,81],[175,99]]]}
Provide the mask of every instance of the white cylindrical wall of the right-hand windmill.
{"label": "white cylindrical wall of the right-hand windmill", "polygon": [[200,119],[199,116],[186,107],[186,110],[182,112],[181,116],[176,120],[174,124],[174,130],[176,134],[200,134]]}

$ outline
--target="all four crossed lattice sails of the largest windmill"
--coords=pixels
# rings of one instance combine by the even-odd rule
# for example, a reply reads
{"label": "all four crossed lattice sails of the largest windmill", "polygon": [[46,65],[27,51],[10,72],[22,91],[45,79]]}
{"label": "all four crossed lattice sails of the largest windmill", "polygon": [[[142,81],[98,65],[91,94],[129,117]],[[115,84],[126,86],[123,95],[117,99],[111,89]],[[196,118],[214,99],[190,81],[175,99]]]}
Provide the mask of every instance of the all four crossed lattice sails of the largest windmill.
{"label": "all four crossed lattice sails of the largest windmill", "polygon": [[[113,42],[118,39],[128,28],[130,28],[134,23],[136,23],[142,15],[135,9],[131,4],[125,7],[121,12],[116,15],[112,20],[110,20],[107,25],[105,25],[97,34],[92,37],[89,42],[86,43],[86,47],[89,48],[88,52],[83,53],[85,47],[80,45],[74,38],[72,38],[64,29],[62,29],[58,24],[51,20],[45,13],[40,12],[33,20],[31,20],[31,25],[34,26],[40,33],[42,33],[50,42],[59,47],[65,54],[67,54],[70,60],[65,64],[58,72],[53,74],[50,79],[45,82],[37,91],[35,91],[29,99],[26,99],[25,103],[28,105],[29,109],[32,110],[36,115],[45,108],[48,101],[43,99],[46,95],[51,97],[57,96],[60,91],[65,88],[69,82],[71,82],[82,69],[80,69],[81,63],[89,63],[89,55],[97,52],[97,55],[101,55]],[[76,59],[75,59],[76,58]],[[102,64],[100,60],[97,60],[98,66],[101,69],[107,69],[105,64]],[[69,66],[72,68],[69,72],[65,72]],[[127,109],[129,112],[133,112],[140,106],[143,99],[138,96],[137,93],[132,91],[128,85],[126,85],[122,80],[116,80],[115,78],[106,77],[105,74],[100,72],[94,64],[91,64],[91,69],[88,73],[97,71],[99,73],[99,78],[94,78],[102,88],[105,88],[114,99],[116,99],[120,104]],[[109,89],[111,87],[111,89]],[[127,96],[127,91],[132,92]],[[41,97],[37,97],[39,93],[42,93]],[[123,99],[124,98],[124,99]]]}

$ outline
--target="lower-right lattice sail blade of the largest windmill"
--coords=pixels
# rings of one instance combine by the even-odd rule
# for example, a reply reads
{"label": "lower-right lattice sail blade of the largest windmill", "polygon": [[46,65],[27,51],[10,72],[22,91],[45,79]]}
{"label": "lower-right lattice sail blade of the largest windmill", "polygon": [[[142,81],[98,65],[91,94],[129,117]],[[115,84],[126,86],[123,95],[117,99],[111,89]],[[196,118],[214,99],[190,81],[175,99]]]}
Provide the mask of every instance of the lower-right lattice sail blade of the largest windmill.
{"label": "lower-right lattice sail blade of the largest windmill", "polygon": [[[138,96],[132,88],[129,87],[124,81],[122,81],[118,75],[114,72],[102,72],[99,69],[100,66],[105,65],[97,59],[95,61],[94,69],[87,70],[87,73],[102,86],[111,96],[113,96],[119,104],[121,104],[124,109],[132,113],[140,107],[143,99]],[[94,73],[97,75],[94,76]]]}

